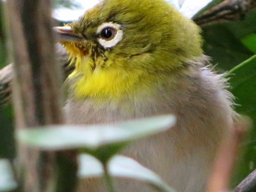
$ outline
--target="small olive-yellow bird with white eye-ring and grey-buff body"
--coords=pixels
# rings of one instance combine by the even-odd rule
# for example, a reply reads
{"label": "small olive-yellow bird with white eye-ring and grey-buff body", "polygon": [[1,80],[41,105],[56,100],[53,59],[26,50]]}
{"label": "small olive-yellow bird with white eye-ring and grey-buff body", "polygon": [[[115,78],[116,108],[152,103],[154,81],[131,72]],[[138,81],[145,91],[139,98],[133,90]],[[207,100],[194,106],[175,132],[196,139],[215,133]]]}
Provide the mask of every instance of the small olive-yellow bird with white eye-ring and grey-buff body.
{"label": "small olive-yellow bird with white eye-ring and grey-buff body", "polygon": [[[177,192],[203,192],[236,113],[227,80],[210,69],[203,54],[200,28],[165,0],[102,0],[55,30],[75,62],[66,80],[68,123],[176,115],[173,128],[122,153]],[[81,192],[105,191],[100,180],[83,182]],[[125,179],[116,188],[154,191]]]}

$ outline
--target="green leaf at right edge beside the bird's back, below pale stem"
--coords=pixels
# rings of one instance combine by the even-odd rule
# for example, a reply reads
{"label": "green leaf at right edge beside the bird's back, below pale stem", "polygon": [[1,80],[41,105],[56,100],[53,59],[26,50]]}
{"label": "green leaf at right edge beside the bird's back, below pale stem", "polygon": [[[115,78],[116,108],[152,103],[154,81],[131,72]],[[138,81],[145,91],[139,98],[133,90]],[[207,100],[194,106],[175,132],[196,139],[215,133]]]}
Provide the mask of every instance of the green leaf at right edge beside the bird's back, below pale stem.
{"label": "green leaf at right edge beside the bird's back, below pale stem", "polygon": [[248,134],[249,142],[242,145],[244,156],[236,166],[232,180],[232,186],[236,186],[256,168],[256,55],[236,66],[229,74],[231,92],[238,104],[236,111],[253,120],[253,129]]}

